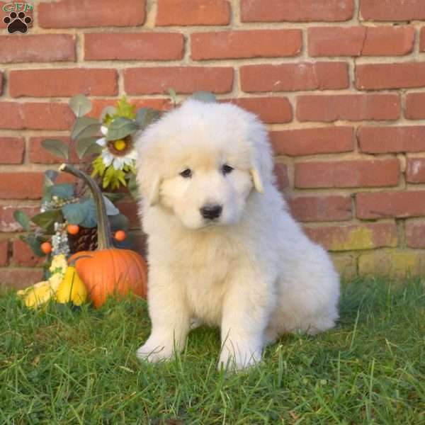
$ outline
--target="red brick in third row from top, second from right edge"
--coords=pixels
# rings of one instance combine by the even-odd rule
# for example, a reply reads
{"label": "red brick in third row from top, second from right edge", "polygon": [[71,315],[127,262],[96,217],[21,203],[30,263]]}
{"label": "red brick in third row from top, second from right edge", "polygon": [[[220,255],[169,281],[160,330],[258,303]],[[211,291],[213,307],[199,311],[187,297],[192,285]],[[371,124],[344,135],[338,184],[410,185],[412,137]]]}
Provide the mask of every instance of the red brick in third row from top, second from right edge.
{"label": "red brick in third row from top, second from right edge", "polygon": [[349,85],[345,62],[244,65],[239,74],[243,91],[338,90]]}

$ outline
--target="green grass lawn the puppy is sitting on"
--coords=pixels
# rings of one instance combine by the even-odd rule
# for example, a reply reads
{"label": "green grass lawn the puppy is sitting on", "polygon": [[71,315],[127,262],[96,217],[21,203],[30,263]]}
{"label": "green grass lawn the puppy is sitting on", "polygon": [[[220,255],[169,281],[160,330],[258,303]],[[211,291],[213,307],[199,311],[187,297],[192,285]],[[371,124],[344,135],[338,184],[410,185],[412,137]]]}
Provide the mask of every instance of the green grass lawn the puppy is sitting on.
{"label": "green grass lawn the puppy is sitting on", "polygon": [[217,329],[139,363],[141,300],[34,312],[0,296],[0,424],[425,424],[425,289],[344,285],[341,321],[288,335],[247,373],[217,372]]}

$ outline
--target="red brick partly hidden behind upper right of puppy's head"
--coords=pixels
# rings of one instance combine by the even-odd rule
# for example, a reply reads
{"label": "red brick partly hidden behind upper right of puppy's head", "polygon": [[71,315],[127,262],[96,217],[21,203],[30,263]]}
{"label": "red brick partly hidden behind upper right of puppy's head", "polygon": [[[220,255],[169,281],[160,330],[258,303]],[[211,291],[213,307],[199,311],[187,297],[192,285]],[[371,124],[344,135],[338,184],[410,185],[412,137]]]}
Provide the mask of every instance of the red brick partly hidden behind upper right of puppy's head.
{"label": "red brick partly hidden behind upper right of puppy's head", "polygon": [[235,98],[229,102],[255,113],[266,124],[289,123],[293,119],[288,98]]}

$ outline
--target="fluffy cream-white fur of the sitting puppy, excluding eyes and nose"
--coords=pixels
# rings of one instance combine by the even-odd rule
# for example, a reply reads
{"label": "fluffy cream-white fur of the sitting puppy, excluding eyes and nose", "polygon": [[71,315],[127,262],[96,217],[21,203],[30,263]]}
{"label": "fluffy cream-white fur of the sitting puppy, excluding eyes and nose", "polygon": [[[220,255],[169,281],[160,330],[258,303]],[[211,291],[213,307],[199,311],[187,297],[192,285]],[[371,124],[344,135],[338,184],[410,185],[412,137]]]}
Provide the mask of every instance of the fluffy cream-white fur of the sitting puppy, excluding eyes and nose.
{"label": "fluffy cream-white fur of the sitting puppy, excluding eyes and nose", "polygon": [[[284,332],[334,326],[339,276],[290,216],[255,115],[186,101],[150,125],[137,150],[152,319],[140,358],[181,351],[193,319],[221,327],[219,367],[236,369],[259,361]],[[233,171],[224,174],[223,164]],[[204,205],[221,205],[222,214],[205,220]]]}

